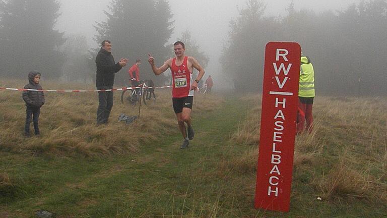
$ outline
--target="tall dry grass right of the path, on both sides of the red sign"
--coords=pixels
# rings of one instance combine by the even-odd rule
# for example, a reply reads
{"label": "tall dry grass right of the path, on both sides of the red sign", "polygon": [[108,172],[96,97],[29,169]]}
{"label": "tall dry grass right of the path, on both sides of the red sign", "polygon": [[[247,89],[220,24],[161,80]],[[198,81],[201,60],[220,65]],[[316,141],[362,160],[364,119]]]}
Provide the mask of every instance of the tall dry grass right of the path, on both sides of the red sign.
{"label": "tall dry grass right of the path, on both sides of the red sign", "polygon": [[[253,172],[260,130],[259,96],[231,140],[250,146],[229,161],[233,168]],[[387,98],[317,97],[314,129],[300,134],[294,150],[295,172],[309,172],[308,185],[324,199],[365,198],[387,202]],[[244,171],[246,165],[249,171]],[[301,174],[301,173],[300,173]]]}

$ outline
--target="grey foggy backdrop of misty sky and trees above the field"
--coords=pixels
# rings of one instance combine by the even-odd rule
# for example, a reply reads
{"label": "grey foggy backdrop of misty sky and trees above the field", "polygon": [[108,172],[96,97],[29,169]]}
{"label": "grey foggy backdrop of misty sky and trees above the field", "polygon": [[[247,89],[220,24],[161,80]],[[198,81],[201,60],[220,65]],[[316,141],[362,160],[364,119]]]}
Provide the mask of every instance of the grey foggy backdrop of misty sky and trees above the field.
{"label": "grey foggy backdrop of misty sky and trees above the field", "polygon": [[[215,90],[257,92],[265,44],[296,41],[315,68],[317,93],[386,95],[386,26],[387,0],[2,0],[0,47],[7,55],[0,56],[0,76],[35,69],[48,80],[90,83],[107,38],[116,60],[143,60],[141,79],[169,84],[168,73],[153,74],[147,53],[160,66],[181,39]],[[126,70],[116,74],[116,86],[128,83]]]}

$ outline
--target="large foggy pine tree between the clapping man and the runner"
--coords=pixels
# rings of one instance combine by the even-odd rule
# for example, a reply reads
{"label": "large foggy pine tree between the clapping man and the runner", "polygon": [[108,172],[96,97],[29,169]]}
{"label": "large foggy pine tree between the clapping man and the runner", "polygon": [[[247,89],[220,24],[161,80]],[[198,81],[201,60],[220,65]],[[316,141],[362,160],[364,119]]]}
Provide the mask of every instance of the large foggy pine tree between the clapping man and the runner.
{"label": "large foggy pine tree between the clapping man and the runner", "polygon": [[[148,52],[152,53],[157,64],[162,64],[169,55],[166,43],[173,31],[169,3],[166,0],[113,0],[105,14],[107,20],[95,26],[98,33],[95,40],[98,43],[110,40],[114,58],[127,58],[128,67],[136,59],[141,59],[141,80],[153,79],[156,84],[164,82],[166,78],[155,77],[146,64]],[[127,85],[128,78],[126,73],[116,74],[116,81],[122,83],[120,85]]]}

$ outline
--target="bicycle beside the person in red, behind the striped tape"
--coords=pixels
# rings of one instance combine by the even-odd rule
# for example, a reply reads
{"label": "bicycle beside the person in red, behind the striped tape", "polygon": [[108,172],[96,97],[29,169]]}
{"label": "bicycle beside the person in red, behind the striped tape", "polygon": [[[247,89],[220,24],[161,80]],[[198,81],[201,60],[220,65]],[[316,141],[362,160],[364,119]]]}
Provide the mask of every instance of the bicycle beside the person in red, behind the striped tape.
{"label": "bicycle beside the person in red, behind the striped tape", "polygon": [[134,89],[123,90],[121,93],[121,103],[136,106],[142,97],[146,105],[156,102],[154,84],[152,80],[140,81],[140,85]]}

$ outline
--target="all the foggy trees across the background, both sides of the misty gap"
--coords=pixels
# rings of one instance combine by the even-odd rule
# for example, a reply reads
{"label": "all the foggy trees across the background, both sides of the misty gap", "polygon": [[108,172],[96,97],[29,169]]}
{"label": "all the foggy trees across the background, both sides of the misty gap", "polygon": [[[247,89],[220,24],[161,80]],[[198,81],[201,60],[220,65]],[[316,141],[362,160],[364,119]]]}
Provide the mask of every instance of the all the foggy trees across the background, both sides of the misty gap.
{"label": "all the foggy trees across the background, both sides of the misty gap", "polygon": [[[86,37],[55,30],[59,18],[57,0],[0,0],[0,76],[23,78],[30,70],[45,78],[91,81],[95,78],[94,59]],[[105,21],[95,23],[100,43],[110,39],[115,58],[125,57],[146,63],[152,52],[156,64],[173,57],[168,40],[174,31],[173,14],[167,0],[112,0]],[[229,40],[220,62],[222,73],[235,88],[262,90],[264,49],[269,41],[296,41],[315,68],[317,94],[385,95],[387,93],[387,0],[362,1],[343,11],[314,13],[295,10],[291,3],[286,14],[264,16],[261,0],[247,0],[238,17],[230,21]],[[209,60],[190,33],[179,38],[186,43],[187,55],[206,67]],[[132,64],[132,63],[130,63]],[[155,77],[142,68],[142,79],[156,84],[168,75]],[[116,84],[127,84],[127,75],[116,75]]]}

